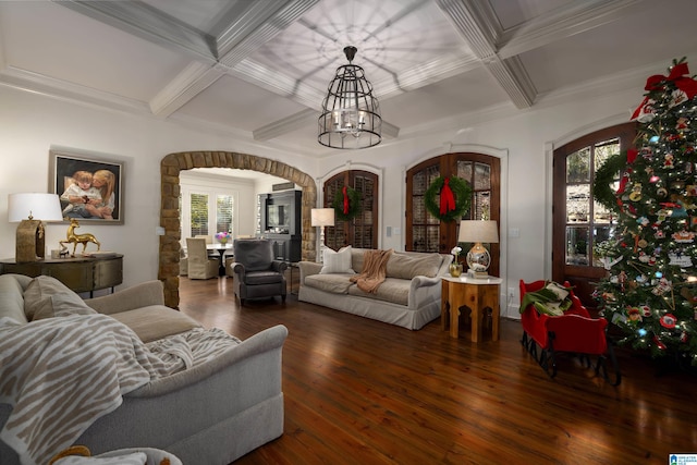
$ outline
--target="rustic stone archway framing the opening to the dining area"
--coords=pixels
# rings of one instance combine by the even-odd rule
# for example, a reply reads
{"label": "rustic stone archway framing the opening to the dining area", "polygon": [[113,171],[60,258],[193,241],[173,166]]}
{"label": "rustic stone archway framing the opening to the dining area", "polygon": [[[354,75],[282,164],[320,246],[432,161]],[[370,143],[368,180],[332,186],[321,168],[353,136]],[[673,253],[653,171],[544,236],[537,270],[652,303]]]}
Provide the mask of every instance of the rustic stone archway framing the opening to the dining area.
{"label": "rustic stone archway framing the opening to the dining area", "polygon": [[164,284],[164,304],[179,307],[180,210],[179,173],[192,168],[236,168],[283,178],[303,187],[303,259],[315,259],[316,232],[310,227],[310,209],[317,204],[317,185],[308,174],[295,168],[254,155],[230,151],[182,151],[160,162],[160,260],[158,279]]}

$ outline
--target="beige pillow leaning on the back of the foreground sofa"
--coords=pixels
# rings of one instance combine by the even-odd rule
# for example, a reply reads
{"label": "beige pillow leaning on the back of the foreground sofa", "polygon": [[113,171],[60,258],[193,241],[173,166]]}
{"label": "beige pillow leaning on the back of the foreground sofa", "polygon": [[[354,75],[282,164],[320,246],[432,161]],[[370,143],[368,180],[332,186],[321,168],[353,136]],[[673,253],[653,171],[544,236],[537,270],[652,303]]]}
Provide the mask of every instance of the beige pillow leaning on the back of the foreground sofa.
{"label": "beige pillow leaning on the back of the foreground sofa", "polygon": [[75,315],[94,313],[80,295],[56,278],[36,277],[24,291],[24,314],[29,321],[53,317],[57,311],[69,315],[71,310]]}

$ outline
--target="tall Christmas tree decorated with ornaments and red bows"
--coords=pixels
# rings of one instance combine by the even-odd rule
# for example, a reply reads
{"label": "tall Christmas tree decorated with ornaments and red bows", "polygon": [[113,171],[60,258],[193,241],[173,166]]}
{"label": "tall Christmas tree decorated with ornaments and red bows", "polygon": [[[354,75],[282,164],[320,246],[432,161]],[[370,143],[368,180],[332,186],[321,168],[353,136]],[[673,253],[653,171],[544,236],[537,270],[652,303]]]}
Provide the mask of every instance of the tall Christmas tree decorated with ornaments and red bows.
{"label": "tall Christmas tree decorated with ornaments and red bows", "polygon": [[[594,197],[616,215],[596,253],[596,297],[620,344],[697,365],[697,82],[684,59],[648,78],[635,149],[598,171]],[[621,172],[616,191],[608,178]]]}

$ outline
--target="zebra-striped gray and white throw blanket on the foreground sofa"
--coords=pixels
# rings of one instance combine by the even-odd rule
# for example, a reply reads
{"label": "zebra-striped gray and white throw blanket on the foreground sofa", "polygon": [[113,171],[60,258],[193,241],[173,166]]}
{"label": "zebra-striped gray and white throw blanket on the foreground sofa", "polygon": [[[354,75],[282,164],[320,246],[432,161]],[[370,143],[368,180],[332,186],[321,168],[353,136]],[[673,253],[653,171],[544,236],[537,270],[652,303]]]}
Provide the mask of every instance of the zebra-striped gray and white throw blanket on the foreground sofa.
{"label": "zebra-striped gray and white throw blanket on the foreground sofa", "polygon": [[0,438],[22,464],[47,464],[122,395],[203,363],[240,341],[192,330],[148,345],[105,315],[20,325],[0,318],[0,402],[13,406]]}

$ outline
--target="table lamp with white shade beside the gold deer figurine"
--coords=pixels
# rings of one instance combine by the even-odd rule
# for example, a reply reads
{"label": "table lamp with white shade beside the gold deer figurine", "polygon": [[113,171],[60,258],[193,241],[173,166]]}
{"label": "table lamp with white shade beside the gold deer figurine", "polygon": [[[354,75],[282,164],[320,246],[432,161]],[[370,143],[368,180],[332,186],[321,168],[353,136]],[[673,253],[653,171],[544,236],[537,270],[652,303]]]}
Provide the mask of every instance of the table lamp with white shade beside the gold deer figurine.
{"label": "table lamp with white shade beside the gold deer figurine", "polygon": [[16,235],[16,262],[42,260],[46,256],[42,221],[63,221],[61,201],[57,194],[10,194],[8,219],[11,223],[20,223]]}

